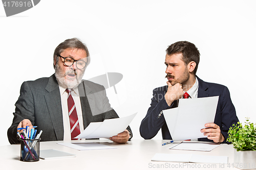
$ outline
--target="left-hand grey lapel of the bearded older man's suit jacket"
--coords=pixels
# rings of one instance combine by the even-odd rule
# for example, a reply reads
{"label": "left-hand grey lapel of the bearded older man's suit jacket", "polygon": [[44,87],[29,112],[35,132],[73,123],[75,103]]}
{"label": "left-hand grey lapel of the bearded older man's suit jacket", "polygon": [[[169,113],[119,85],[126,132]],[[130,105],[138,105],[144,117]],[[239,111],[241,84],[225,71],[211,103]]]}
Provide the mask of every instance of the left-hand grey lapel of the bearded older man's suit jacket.
{"label": "left-hand grey lapel of the bearded older man's suit jacket", "polygon": [[46,105],[49,110],[54,132],[57,140],[63,140],[63,117],[61,108],[60,92],[55,75],[49,78],[46,86],[49,93],[45,94]]}

